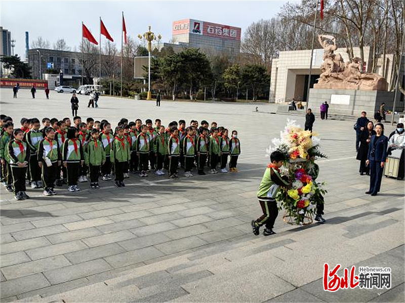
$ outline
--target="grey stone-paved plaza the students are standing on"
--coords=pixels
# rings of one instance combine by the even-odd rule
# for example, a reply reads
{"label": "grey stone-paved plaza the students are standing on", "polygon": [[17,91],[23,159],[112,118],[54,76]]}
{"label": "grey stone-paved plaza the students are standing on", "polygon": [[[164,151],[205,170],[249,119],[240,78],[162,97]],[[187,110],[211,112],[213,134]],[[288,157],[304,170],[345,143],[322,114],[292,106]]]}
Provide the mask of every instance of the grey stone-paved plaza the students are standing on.
{"label": "grey stone-paved plaza the students are standing on", "polygon": [[[276,235],[252,234],[261,209],[257,188],[269,161],[266,148],[288,118],[265,103],[135,101],[101,97],[78,115],[129,120],[160,118],[217,121],[237,129],[239,172],[170,180],[131,175],[125,188],[80,183],[80,192],[57,196],[27,189],[15,201],[0,188],[0,299],[24,302],[403,302],[405,297],[404,181],[383,177],[381,193],[366,195],[359,176],[354,121],[320,120],[314,132],[327,159],[318,180],[327,183],[326,224],[299,227],[282,221]],[[255,111],[258,106],[259,112]],[[40,120],[71,117],[70,95],[0,90],[0,111]],[[371,115],[372,113],[370,113]],[[386,123],[386,134],[394,127]],[[390,289],[323,290],[323,264],[390,267]]]}

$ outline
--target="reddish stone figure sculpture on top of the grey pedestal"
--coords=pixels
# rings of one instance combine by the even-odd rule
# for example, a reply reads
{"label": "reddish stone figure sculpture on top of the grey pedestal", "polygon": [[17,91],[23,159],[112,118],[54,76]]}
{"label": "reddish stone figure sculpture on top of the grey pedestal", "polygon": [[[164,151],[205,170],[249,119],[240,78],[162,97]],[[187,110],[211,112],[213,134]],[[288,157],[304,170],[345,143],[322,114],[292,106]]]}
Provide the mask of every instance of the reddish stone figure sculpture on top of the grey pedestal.
{"label": "reddish stone figure sculpture on top of the grey pedestal", "polygon": [[325,53],[320,66],[322,73],[315,89],[387,91],[385,78],[375,73],[361,72],[361,59],[352,58],[352,62],[343,62],[340,54],[335,54],[336,39],[331,35],[318,35],[319,44]]}

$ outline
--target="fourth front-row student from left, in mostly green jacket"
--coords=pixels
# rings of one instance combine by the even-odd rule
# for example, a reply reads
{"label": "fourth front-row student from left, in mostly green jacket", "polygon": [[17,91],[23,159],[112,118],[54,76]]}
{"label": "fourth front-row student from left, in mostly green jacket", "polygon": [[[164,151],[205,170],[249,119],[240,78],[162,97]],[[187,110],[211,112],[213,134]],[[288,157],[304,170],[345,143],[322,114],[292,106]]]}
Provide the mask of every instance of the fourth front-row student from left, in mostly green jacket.
{"label": "fourth front-row student from left, in mostly green jacket", "polygon": [[90,138],[85,147],[85,164],[90,168],[90,188],[99,189],[98,179],[100,177],[101,165],[105,162],[105,151],[99,140],[99,131],[93,128]]}

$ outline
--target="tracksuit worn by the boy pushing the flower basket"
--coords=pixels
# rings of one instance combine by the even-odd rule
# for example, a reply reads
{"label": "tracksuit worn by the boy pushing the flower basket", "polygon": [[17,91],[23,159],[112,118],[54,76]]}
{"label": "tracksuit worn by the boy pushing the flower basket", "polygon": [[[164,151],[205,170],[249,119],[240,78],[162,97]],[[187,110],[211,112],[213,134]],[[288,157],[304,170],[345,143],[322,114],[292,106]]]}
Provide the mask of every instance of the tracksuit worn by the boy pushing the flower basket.
{"label": "tracksuit worn by the boy pushing the flower basket", "polygon": [[257,192],[260,207],[263,214],[255,221],[256,226],[266,225],[267,229],[272,229],[278,215],[277,202],[275,197],[280,186],[288,186],[288,178],[281,177],[277,167],[270,164],[264,172],[262,182]]}

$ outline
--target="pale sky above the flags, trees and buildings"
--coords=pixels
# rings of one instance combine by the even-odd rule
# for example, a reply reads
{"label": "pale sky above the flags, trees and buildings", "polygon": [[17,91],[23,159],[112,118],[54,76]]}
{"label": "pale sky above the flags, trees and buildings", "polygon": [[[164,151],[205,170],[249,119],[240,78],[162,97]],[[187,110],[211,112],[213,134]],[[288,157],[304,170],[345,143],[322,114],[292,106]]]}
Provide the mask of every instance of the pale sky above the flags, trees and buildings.
{"label": "pale sky above the flags, trees and buildings", "polygon": [[[245,29],[260,19],[278,14],[287,1],[18,1],[0,0],[0,25],[11,31],[16,40],[14,54],[25,58],[25,31],[29,41],[38,36],[53,42],[64,38],[73,48],[81,41],[82,21],[99,40],[99,18],[120,49],[121,12],[124,11],[127,33],[136,38],[148,25],[162,41],[172,37],[172,22],[196,19]],[[102,43],[105,38],[102,36]]]}

